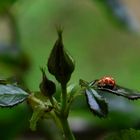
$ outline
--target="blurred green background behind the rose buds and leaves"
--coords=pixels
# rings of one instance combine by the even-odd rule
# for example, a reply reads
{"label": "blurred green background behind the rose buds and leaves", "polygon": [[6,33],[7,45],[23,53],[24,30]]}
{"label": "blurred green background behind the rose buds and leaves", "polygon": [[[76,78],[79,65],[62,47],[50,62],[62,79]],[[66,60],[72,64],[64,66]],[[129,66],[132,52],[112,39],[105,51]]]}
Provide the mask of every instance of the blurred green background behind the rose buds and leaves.
{"label": "blurred green background behind the rose buds and leaves", "polygon": [[[139,5],[139,0],[1,0],[0,77],[16,75],[24,87],[39,90],[39,67],[46,66],[61,25],[65,48],[76,62],[70,83],[108,75],[140,90]],[[84,98],[74,103],[69,121],[77,139],[102,140],[112,131],[140,129],[140,101],[107,99],[107,119],[93,116]],[[58,140],[51,121],[40,121],[38,130],[30,131],[31,112],[26,103],[1,108],[0,139]]]}

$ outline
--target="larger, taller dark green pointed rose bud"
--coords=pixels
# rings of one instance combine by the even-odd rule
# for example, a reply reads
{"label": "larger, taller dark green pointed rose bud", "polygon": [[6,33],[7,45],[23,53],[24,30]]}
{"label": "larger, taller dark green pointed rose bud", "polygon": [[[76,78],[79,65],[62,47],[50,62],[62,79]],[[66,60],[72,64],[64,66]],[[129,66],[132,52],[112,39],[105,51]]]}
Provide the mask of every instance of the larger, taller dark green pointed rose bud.
{"label": "larger, taller dark green pointed rose bud", "polygon": [[64,49],[62,30],[58,29],[57,33],[58,39],[51,51],[47,66],[49,72],[55,76],[58,82],[66,84],[70,80],[75,65],[72,57]]}

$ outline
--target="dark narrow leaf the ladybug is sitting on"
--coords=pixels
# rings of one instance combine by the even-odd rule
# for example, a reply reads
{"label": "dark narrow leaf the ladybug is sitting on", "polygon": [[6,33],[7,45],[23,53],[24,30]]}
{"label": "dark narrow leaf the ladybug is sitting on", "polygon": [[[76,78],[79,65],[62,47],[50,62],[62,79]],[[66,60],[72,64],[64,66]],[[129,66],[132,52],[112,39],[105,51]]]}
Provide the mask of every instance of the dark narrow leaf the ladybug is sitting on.
{"label": "dark narrow leaf the ladybug is sitting on", "polygon": [[140,92],[132,89],[128,89],[119,85],[116,85],[113,89],[109,88],[98,88],[99,90],[106,91],[109,93],[116,94],[118,96],[123,96],[125,98],[135,100],[140,98]]}

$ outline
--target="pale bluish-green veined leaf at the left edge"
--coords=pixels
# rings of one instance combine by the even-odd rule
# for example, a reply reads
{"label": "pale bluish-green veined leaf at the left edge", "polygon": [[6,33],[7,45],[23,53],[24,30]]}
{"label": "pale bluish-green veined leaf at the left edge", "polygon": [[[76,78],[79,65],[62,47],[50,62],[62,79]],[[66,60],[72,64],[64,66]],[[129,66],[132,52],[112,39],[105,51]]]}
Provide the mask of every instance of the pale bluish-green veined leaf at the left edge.
{"label": "pale bluish-green veined leaf at the left edge", "polygon": [[15,85],[0,85],[0,106],[10,107],[23,102],[28,93]]}

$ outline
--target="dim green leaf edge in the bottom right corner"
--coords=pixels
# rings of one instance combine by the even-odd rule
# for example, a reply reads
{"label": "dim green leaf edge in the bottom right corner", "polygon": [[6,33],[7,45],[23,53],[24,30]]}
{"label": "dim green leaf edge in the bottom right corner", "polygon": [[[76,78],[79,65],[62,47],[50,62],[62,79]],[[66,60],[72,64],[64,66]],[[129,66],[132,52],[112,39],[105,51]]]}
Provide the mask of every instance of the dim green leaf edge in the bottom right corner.
{"label": "dim green leaf edge in the bottom right corner", "polygon": [[105,140],[139,140],[140,130],[122,130],[117,133],[109,134],[105,137]]}

